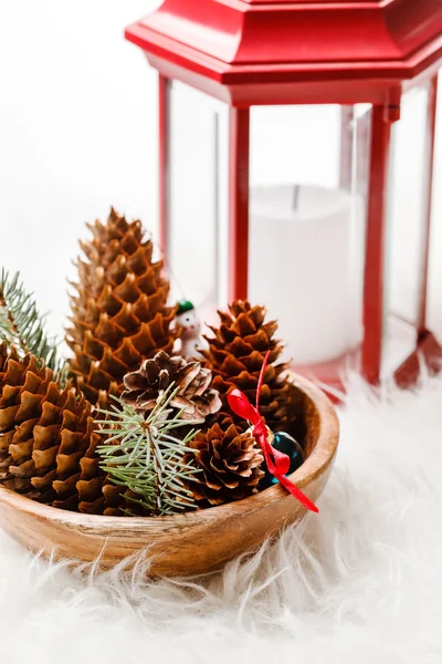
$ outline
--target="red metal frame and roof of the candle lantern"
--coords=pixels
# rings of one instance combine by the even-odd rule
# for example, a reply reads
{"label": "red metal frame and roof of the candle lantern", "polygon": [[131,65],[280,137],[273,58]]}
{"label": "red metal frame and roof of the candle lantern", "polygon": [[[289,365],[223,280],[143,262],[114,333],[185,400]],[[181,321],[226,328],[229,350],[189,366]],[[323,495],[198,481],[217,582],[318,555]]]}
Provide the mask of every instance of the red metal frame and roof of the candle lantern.
{"label": "red metal frame and roof of the candle lantern", "polygon": [[372,105],[360,369],[379,382],[383,328],[386,189],[390,129],[402,93],[427,82],[425,239],[417,352],[397,370],[408,384],[418,351],[436,367],[442,356],[427,329],[428,258],[438,70],[442,65],[440,0],[165,0],[125,37],[159,73],[160,241],[167,252],[170,82],[187,83],[229,105],[229,295],[248,297],[250,107],[278,104]]}

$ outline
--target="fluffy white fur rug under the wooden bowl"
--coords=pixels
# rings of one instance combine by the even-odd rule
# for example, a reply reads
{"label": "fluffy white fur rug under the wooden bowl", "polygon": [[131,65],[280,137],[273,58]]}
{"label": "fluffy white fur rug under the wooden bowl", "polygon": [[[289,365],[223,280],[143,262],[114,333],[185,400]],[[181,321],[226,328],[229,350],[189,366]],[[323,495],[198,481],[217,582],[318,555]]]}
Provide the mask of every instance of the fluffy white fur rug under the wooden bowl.
{"label": "fluffy white fur rug under the wooden bowl", "polygon": [[319,516],[206,583],[82,577],[0,531],[1,664],[442,662],[442,380],[355,383]]}

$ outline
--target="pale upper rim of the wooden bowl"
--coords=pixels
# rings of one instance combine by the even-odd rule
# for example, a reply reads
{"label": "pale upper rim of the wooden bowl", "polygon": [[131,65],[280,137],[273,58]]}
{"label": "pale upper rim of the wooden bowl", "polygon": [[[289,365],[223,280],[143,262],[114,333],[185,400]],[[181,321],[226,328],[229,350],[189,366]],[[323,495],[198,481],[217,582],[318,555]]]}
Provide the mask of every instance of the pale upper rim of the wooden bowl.
{"label": "pale upper rim of the wooden bowl", "polygon": [[[339,421],[334,406],[320,387],[292,371],[287,372],[287,374],[291,376],[294,385],[314,404],[319,422],[319,432],[314,449],[304,464],[288,476],[297,487],[302,488],[308,485],[312,479],[322,475],[333,463],[339,442]],[[158,517],[114,517],[59,509],[50,505],[36,502],[25,495],[18,494],[0,485],[0,504],[18,509],[21,512],[27,512],[30,516],[44,520],[69,521],[71,525],[81,523],[84,527],[91,528],[112,523],[114,530],[127,530],[129,528],[131,530],[139,528],[147,529],[149,526],[154,527],[155,525],[158,527],[160,523],[167,527],[196,526],[197,522],[212,521],[221,517],[241,517],[245,512],[260,510],[288,497],[291,497],[290,494],[281,485],[275,485],[242,500],[218,505],[208,509]]]}

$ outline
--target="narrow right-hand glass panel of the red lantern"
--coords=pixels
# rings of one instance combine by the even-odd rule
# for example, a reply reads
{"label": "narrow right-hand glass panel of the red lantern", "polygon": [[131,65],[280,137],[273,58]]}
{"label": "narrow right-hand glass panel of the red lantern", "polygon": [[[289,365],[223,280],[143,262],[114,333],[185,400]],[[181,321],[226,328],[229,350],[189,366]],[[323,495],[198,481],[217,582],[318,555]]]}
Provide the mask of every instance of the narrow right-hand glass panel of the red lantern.
{"label": "narrow right-hand glass panel of the red lantern", "polygon": [[386,247],[383,371],[390,373],[414,350],[425,276],[429,164],[429,91],[402,95],[401,117],[391,127]]}

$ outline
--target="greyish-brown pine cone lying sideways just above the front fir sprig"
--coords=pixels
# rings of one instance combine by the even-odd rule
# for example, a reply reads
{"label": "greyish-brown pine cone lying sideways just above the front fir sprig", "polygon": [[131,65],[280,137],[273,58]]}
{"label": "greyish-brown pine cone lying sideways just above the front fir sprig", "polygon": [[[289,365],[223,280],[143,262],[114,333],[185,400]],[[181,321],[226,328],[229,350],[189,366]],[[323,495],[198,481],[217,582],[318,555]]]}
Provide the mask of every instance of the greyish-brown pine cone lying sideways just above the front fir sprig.
{"label": "greyish-brown pine cone lying sideways just above the front fir sprig", "polygon": [[122,398],[138,413],[151,411],[159,396],[171,383],[179,387],[170,402],[172,408],[186,408],[182,419],[204,422],[221,407],[218,392],[210,387],[212,374],[200,362],[187,362],[181,356],[170,357],[164,351],[152,360],[146,360],[138,371],[126,374]]}

